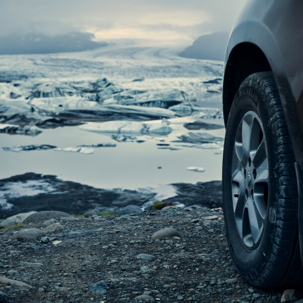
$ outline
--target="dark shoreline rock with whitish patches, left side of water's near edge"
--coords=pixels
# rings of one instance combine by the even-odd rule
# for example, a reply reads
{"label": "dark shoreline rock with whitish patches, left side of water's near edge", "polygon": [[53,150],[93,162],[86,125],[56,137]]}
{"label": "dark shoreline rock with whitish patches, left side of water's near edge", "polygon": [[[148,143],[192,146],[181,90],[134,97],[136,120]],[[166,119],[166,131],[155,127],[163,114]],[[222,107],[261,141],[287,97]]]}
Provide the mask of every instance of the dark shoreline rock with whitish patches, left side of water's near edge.
{"label": "dark shoreline rock with whitish patches, left side of water's near edge", "polygon": [[[28,218],[26,222],[37,221],[43,223],[50,219],[60,218],[60,221],[76,220],[70,214],[84,214],[88,210],[97,208],[111,208],[116,210],[126,205],[139,205],[141,206],[145,202],[152,201],[156,193],[150,190],[128,190],[128,189],[101,189],[92,186],[60,180],[53,175],[41,175],[35,173],[25,173],[22,175],[16,175],[9,178],[0,180],[0,195],[7,194],[7,184],[18,185],[25,184],[26,189],[30,189],[29,192],[37,192],[35,196],[18,196],[5,197],[7,203],[11,205],[9,209],[1,209],[1,215],[4,218],[13,216],[19,213],[25,213],[29,211],[39,211],[39,215]],[[43,185],[39,187],[39,191],[36,187],[27,186],[27,184]],[[9,187],[10,188],[10,187]],[[32,190],[33,189],[33,190]],[[12,192],[12,191],[11,191]],[[55,216],[50,214],[49,211],[59,211],[55,213]],[[47,211],[47,212],[41,212]],[[64,213],[61,213],[64,212]],[[45,214],[45,215],[44,215]],[[42,216],[43,215],[43,216]],[[42,218],[41,218],[42,217]],[[64,219],[63,219],[64,218]],[[37,220],[36,220],[37,219]]]}

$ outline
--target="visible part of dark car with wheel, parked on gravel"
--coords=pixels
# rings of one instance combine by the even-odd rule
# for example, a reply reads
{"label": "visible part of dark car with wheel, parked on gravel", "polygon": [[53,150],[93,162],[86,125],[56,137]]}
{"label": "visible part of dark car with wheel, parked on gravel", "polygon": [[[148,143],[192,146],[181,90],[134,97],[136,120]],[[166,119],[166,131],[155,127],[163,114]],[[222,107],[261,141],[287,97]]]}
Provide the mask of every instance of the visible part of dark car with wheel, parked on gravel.
{"label": "visible part of dark car with wheel, parked on gravel", "polygon": [[227,44],[227,242],[258,287],[303,286],[302,49],[302,0],[248,1]]}

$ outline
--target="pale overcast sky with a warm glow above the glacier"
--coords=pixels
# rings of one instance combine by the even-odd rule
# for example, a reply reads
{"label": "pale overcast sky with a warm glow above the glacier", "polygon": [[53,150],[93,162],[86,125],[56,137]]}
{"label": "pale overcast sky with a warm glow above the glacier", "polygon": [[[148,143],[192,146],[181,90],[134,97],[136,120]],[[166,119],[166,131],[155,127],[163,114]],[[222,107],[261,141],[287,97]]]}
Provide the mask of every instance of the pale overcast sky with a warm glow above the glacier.
{"label": "pale overcast sky with a warm glow above the glacier", "polygon": [[188,39],[230,31],[245,0],[1,0],[0,35],[75,30],[112,38]]}

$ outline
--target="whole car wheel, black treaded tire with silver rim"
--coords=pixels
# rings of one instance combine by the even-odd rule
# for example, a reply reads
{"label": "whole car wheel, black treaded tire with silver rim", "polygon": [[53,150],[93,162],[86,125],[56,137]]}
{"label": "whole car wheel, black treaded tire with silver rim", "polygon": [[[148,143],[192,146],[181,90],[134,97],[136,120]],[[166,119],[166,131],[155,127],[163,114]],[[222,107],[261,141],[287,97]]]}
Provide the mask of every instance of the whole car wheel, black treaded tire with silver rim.
{"label": "whole car wheel, black treaded tire with silver rim", "polygon": [[231,258],[253,286],[303,285],[294,162],[273,74],[248,76],[227,122],[223,207]]}

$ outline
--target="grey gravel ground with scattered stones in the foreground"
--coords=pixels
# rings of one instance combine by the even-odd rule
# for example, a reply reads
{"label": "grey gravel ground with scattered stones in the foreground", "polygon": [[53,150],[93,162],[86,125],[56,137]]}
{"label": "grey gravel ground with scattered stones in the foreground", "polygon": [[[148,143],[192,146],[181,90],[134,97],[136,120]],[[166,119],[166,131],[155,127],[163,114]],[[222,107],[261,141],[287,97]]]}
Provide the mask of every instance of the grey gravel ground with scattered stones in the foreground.
{"label": "grey gravel ground with scattered stones in the foreground", "polygon": [[298,292],[282,297],[283,289],[251,287],[238,275],[221,209],[166,207],[141,213],[129,206],[120,214],[99,215],[38,212],[2,228],[0,290],[9,299],[1,293],[0,302],[275,303],[303,298]]}

